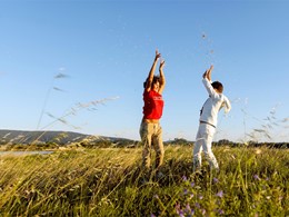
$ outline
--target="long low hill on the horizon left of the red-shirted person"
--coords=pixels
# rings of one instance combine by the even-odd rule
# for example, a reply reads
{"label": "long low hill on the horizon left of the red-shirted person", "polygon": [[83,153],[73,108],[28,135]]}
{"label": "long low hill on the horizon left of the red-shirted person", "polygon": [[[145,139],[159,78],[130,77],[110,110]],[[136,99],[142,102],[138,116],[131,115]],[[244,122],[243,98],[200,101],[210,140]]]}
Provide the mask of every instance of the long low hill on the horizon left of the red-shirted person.
{"label": "long low hill on the horizon left of the red-shirted person", "polygon": [[114,137],[91,136],[72,131],[23,131],[0,130],[0,145],[6,144],[48,144],[69,145],[73,142],[133,142],[133,140]]}

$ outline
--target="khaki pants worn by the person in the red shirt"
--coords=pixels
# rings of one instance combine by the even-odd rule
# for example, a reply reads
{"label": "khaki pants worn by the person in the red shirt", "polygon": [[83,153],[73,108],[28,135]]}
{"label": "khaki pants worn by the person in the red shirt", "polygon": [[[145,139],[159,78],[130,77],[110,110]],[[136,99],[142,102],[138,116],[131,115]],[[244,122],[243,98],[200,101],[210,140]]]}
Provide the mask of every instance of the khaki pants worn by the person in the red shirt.
{"label": "khaki pants worn by the person in the red shirt", "polygon": [[141,144],[143,145],[142,151],[142,166],[150,168],[151,161],[151,146],[156,150],[156,168],[162,165],[163,160],[163,144],[162,144],[162,128],[160,124],[148,124],[142,121],[140,125]]}

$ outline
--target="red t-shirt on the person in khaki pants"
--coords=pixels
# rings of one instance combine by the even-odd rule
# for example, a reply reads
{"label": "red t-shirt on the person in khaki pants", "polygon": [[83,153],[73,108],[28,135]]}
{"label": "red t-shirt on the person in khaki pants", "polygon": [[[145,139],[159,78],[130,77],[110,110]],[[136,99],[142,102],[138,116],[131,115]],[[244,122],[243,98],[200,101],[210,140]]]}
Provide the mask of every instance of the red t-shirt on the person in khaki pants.
{"label": "red t-shirt on the person in khaki pants", "polygon": [[160,119],[163,109],[162,96],[159,92],[144,90],[143,92],[143,118],[144,119]]}

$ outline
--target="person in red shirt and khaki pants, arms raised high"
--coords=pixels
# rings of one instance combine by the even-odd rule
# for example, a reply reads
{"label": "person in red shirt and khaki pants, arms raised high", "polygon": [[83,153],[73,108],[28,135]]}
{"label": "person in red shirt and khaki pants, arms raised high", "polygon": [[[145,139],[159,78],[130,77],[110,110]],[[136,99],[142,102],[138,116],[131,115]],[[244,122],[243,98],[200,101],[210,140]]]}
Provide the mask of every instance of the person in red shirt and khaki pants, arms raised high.
{"label": "person in red shirt and khaki pants, arms raised high", "polygon": [[160,62],[159,76],[155,76],[157,62],[160,58],[158,50],[150,69],[149,76],[143,83],[143,118],[140,125],[140,137],[143,145],[142,151],[142,166],[147,169],[150,168],[151,145],[156,150],[156,168],[158,169],[163,160],[163,144],[162,144],[162,128],[160,126],[160,118],[162,116],[163,100],[162,91],[166,85],[162,68],[165,60]]}

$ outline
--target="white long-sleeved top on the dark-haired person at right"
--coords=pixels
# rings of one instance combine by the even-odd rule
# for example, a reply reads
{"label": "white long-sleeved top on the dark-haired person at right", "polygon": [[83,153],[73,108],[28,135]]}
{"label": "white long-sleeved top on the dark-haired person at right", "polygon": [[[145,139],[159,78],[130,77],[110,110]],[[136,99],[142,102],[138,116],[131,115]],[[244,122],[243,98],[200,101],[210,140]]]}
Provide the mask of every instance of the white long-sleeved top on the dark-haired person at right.
{"label": "white long-sleeved top on the dark-haired person at right", "polygon": [[225,112],[229,112],[231,103],[225,95],[216,92],[207,78],[202,79],[202,83],[209,93],[209,98],[202,106],[200,121],[208,122],[216,127],[219,110],[225,107]]}

